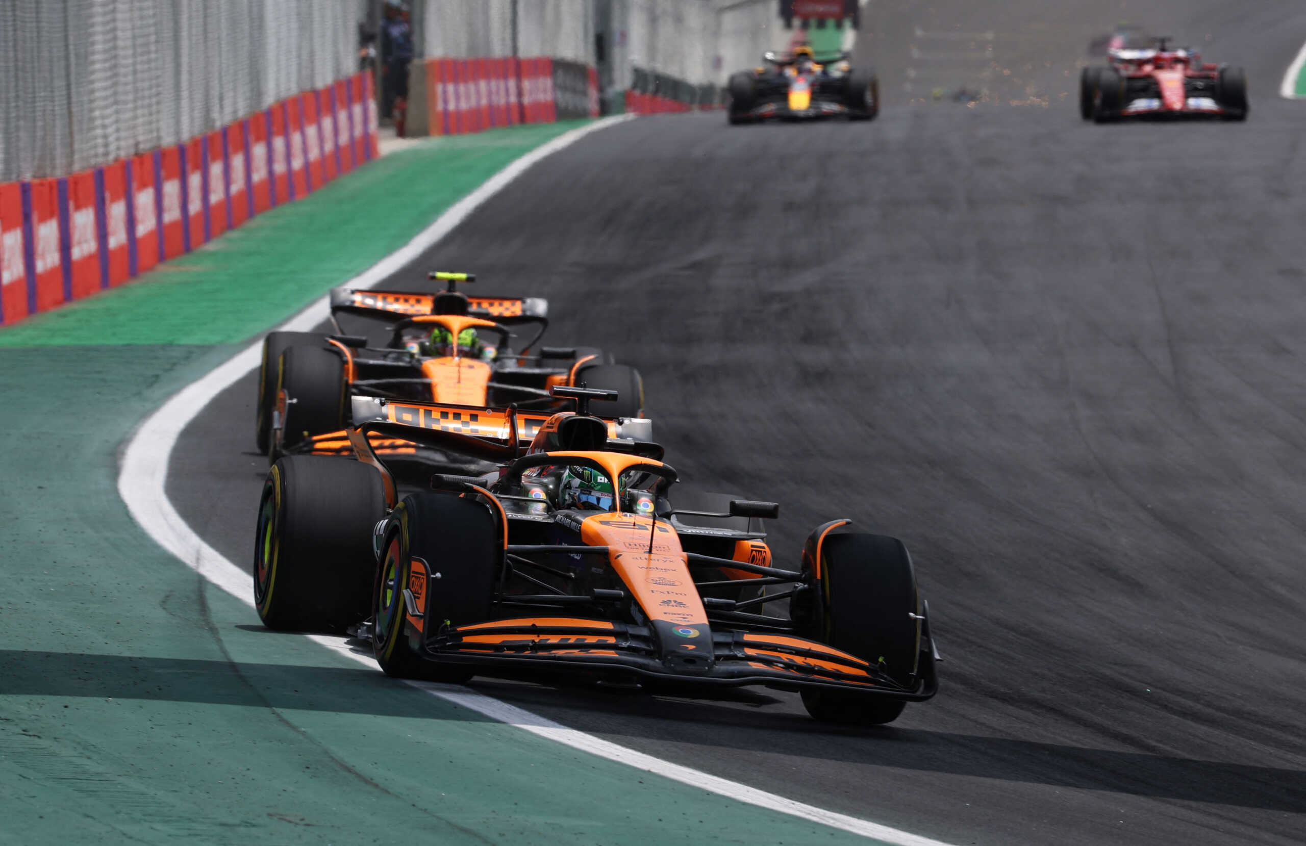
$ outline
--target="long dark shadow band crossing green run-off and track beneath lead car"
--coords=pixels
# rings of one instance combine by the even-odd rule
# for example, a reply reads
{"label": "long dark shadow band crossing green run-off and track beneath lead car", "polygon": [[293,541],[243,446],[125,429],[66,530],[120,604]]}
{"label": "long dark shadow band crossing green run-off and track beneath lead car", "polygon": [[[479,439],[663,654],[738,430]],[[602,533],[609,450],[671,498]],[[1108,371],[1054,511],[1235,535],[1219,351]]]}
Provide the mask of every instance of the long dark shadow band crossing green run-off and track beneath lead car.
{"label": "long dark shadow band crossing green run-off and track beneath lead car", "polygon": [[[415,689],[411,696],[396,696],[401,683],[364,667],[0,650],[0,678],[4,679],[0,696],[204,702],[490,722],[468,709],[441,708]],[[509,691],[508,685],[492,682],[474,687],[526,706],[565,705],[597,714],[620,714],[623,721],[605,722],[605,734],[615,730],[628,736],[658,738],[675,726],[674,738],[666,739],[744,752],[782,752],[841,764],[1306,812],[1306,772],[1301,770],[917,728],[831,728],[794,714],[759,710],[754,706],[776,700],[750,691],[733,697],[730,706],[568,688],[512,685]],[[742,712],[739,705],[748,708]],[[743,731],[741,722],[747,722]]]}

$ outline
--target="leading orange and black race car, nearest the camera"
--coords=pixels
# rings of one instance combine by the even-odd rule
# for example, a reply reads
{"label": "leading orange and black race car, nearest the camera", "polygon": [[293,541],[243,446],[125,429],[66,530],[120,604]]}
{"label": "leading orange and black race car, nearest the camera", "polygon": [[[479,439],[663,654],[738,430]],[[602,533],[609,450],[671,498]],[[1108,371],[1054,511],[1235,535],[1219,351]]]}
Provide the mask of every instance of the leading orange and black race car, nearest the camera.
{"label": "leading orange and black race car, nearest the camera", "polygon": [[[934,696],[929,610],[900,540],[835,520],[797,567],[776,567],[760,522],[778,505],[678,509],[662,448],[588,414],[611,392],[554,396],[577,411],[538,424],[524,453],[511,415],[487,437],[441,426],[436,409],[355,398],[358,461],[289,456],[268,477],[253,560],[264,623],[350,629],[401,678],[571,675],[680,696],[760,684],[801,692],[818,719],[861,725]],[[374,432],[499,466],[436,474],[400,499]],[[780,601],[788,616],[763,612]]]}

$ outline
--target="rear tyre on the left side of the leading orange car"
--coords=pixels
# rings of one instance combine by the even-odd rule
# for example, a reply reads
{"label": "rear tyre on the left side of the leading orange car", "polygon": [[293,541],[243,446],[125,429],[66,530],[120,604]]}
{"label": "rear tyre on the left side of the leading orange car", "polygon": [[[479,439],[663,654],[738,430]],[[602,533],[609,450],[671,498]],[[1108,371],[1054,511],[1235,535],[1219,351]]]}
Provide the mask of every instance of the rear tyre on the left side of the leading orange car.
{"label": "rear tyre on the left side of the leading orange car", "polygon": [[367,618],[385,516],[380,474],[326,456],[287,456],[268,471],[259,503],[253,598],[285,632],[343,632]]}

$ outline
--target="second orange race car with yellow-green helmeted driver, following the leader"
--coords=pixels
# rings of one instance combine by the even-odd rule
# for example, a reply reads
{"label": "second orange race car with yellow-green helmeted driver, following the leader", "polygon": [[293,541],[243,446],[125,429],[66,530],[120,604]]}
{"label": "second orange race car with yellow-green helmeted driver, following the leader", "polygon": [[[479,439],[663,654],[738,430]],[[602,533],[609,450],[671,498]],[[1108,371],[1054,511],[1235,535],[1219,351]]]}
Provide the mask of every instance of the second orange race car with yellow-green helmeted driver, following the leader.
{"label": "second orange race car with yellow-green helmeted driver, following the leader", "polygon": [[[276,458],[312,450],[313,436],[343,441],[350,396],[485,407],[562,407],[552,385],[618,390],[605,414],[636,418],[644,388],[636,369],[593,347],[538,347],[549,303],[538,298],[468,296],[470,273],[431,273],[444,291],[336,289],[334,334],[274,332],[259,371],[257,443]],[[513,328],[529,326],[524,343]],[[347,330],[347,332],[346,332]],[[516,346],[516,350],[513,349]]]}

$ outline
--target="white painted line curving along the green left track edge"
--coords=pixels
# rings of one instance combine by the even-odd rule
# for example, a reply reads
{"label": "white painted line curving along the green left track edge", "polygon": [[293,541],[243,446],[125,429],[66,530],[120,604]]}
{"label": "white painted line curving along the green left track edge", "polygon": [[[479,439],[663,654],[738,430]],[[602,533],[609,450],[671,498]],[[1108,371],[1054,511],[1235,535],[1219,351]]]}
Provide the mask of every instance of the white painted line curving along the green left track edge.
{"label": "white painted line curving along the green left track edge", "polygon": [[[605,129],[622,120],[629,120],[633,115],[620,115],[598,120],[586,127],[581,127],[558,136],[552,141],[543,144],[521,158],[513,161],[502,171],[491,176],[479,188],[449,206],[431,226],[422,230],[407,244],[396,252],[385,256],[375,265],[345,282],[351,287],[371,287],[396,270],[404,268],[410,261],[422,255],[426,249],[436,244],[461,223],[473,210],[486,200],[499,193],[512,180],[529,170],[533,164],[550,154],[567,148],[590,132]],[[326,320],[329,315],[328,298],[313,300],[303,311],[277,326],[278,330],[302,332],[308,330]],[[230,561],[221,552],[204,542],[195,530],[185,522],[182,514],[172,507],[167,497],[167,467],[172,456],[172,448],[178,437],[199,415],[200,411],[219,393],[231,386],[236,380],[259,367],[261,358],[261,341],[249,345],[240,352],[227,359],[195,383],[191,383],[154,414],[146,418],[132,435],[127,449],[123,452],[121,469],[118,477],[118,494],[127,504],[128,512],[140,527],[155,543],[182,560],[187,567],[202,576],[206,581],[248,606],[253,606],[253,597],[249,586],[249,573]],[[377,672],[371,655],[364,655],[350,649],[342,638],[325,637],[320,634],[308,636],[310,640],[326,646],[342,655],[346,655]],[[499,701],[482,693],[471,692],[466,688],[451,685],[428,684],[410,682],[413,687],[427,693],[473,710],[491,719],[509,723],[515,727],[529,731],[533,735],[554,740],[573,749],[626,764],[635,769],[662,776],[673,781],[699,787],[721,796],[735,799],[747,804],[768,808],[789,816],[819,822],[829,828],[840,829],[862,837],[871,837],[895,846],[948,846],[942,841],[919,837],[909,832],[902,832],[878,822],[868,822],[857,817],[836,813],[815,806],[803,804],[784,796],[757,790],[747,785],[733,782],[726,778],[710,776],[700,770],[656,759],[643,752],[636,752],[618,745],[609,740],[596,738],[575,728],[568,728],[551,719],[533,714],[525,709]]]}

